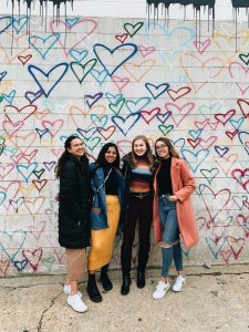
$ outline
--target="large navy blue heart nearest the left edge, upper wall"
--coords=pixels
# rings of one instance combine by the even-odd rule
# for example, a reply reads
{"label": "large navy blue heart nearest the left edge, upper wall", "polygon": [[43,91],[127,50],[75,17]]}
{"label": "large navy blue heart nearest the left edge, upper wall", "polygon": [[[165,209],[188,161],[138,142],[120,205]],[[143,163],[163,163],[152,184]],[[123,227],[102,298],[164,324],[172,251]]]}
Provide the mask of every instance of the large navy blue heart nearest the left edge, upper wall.
{"label": "large navy blue heart nearest the left edge, upper wall", "polygon": [[[43,91],[45,97],[48,97],[51,92],[53,91],[53,89],[59,84],[59,82],[62,80],[62,77],[65,75],[65,73],[69,70],[69,63],[66,62],[62,62],[59,63],[56,65],[54,65],[49,72],[43,72],[40,68],[30,64],[28,66],[28,71],[30,72],[30,74],[33,76],[35,83],[38,84],[38,86]],[[45,91],[45,87],[42,85],[43,82],[42,80],[44,80],[46,82],[46,84],[49,83],[49,79],[51,74],[56,74],[56,77],[53,79],[53,81],[51,80],[50,82],[50,89],[48,89],[48,91]]]}

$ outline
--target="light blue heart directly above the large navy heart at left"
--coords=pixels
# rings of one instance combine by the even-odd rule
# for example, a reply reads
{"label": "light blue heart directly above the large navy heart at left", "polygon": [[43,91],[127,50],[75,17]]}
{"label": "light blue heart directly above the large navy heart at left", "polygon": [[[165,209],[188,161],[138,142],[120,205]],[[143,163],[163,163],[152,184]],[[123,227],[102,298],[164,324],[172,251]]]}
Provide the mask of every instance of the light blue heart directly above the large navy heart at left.
{"label": "light blue heart directly above the large navy heart at left", "polygon": [[60,39],[60,33],[52,33],[46,38],[39,35],[31,35],[29,42],[31,46],[45,60],[45,55],[53,48],[56,41]]}

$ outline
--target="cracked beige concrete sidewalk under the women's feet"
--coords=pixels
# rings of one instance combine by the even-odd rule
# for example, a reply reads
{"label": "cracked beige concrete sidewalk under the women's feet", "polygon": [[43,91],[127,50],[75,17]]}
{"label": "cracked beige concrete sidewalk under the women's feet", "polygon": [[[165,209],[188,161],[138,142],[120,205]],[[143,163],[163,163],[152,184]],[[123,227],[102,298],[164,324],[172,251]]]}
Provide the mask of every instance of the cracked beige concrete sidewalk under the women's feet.
{"label": "cracked beige concrete sidewalk under the women's feet", "polygon": [[141,290],[133,271],[131,293],[122,297],[121,271],[112,271],[114,289],[104,292],[100,284],[101,303],[89,300],[83,282],[86,313],[66,304],[63,276],[0,279],[0,332],[249,331],[248,264],[186,268],[183,292],[168,291],[165,299],[155,301],[152,293],[159,272],[148,270],[147,284]]}

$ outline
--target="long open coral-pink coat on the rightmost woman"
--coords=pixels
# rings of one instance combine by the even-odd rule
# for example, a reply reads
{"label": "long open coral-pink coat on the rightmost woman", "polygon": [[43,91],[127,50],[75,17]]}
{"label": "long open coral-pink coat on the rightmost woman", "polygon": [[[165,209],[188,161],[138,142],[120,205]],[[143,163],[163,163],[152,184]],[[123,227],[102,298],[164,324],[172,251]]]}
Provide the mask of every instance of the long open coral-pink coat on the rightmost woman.
{"label": "long open coral-pink coat on the rightmost woman", "polygon": [[[159,166],[160,167],[160,166]],[[153,222],[156,243],[162,241],[163,229],[159,220],[158,206],[158,189],[156,176],[159,170],[156,170],[154,177],[154,201],[153,201]],[[196,227],[195,214],[190,200],[190,195],[195,190],[195,180],[189,172],[189,168],[184,159],[172,158],[172,186],[173,195],[177,196],[176,203],[177,219],[181,239],[187,249],[194,247],[198,240],[198,231]]]}

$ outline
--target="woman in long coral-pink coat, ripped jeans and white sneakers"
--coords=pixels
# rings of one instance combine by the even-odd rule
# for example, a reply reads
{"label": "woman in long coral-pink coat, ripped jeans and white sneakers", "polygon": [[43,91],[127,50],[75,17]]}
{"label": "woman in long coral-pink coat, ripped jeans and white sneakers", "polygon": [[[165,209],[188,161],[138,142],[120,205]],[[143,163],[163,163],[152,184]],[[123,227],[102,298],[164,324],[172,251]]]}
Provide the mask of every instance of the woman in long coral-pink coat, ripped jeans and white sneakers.
{"label": "woman in long coral-pink coat, ripped jeans and white sneakers", "polygon": [[173,290],[181,291],[186,281],[179,234],[189,249],[198,242],[198,232],[190,201],[195,180],[186,162],[179,158],[168,138],[158,138],[155,151],[159,167],[154,177],[154,231],[155,241],[162,247],[163,269],[153,298],[159,300],[170,288],[168,271],[173,259],[178,273]]}

